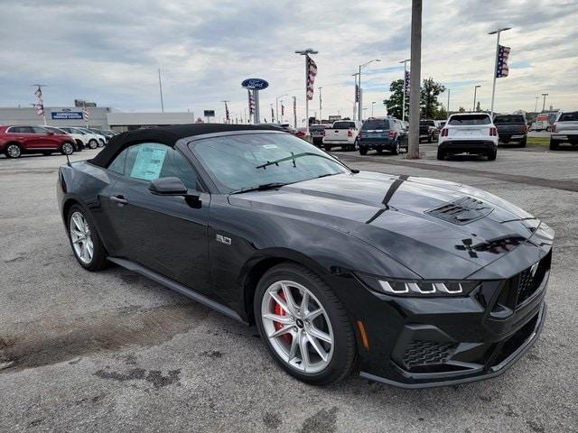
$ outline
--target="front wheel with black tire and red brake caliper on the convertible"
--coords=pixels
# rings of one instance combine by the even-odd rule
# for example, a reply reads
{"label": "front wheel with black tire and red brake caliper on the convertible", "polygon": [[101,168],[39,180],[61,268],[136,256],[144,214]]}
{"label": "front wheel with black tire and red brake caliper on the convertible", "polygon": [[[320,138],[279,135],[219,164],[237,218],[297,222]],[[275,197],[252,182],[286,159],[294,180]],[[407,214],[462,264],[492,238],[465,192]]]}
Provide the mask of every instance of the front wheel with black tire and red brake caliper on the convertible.
{"label": "front wheel with black tire and red brake caliper on the convertible", "polygon": [[[284,302],[287,310],[272,293]],[[297,304],[301,307],[303,293],[309,295],[306,311],[320,311],[315,318],[308,320],[303,308],[295,309]],[[286,307],[289,297],[294,300],[293,307]],[[312,385],[327,385],[350,374],[356,354],[350,319],[340,299],[314,272],[294,263],[282,263],[267,271],[257,284],[254,313],[267,349],[277,364],[296,379]],[[280,323],[265,315],[283,317],[285,321]],[[271,336],[281,330],[285,332]]]}

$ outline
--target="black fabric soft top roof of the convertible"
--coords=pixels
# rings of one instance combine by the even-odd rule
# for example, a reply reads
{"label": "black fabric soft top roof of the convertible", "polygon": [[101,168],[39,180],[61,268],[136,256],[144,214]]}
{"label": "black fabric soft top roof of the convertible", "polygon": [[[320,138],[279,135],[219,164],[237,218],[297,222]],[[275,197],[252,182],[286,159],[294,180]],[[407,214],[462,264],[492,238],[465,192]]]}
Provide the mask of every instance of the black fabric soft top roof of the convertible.
{"label": "black fabric soft top roof of the convertible", "polygon": [[99,167],[107,167],[118,153],[132,143],[162,143],[174,146],[182,138],[195,135],[252,130],[279,131],[272,126],[254,124],[175,124],[172,126],[137,129],[111,137],[107,146],[90,160],[90,163]]}

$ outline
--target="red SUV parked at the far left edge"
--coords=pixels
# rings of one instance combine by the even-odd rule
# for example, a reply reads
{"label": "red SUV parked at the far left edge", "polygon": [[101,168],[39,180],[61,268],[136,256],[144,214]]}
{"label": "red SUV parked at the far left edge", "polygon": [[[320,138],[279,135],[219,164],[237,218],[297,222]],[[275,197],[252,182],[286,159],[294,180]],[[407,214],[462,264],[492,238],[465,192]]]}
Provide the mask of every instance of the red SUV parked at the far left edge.
{"label": "red SUV parked at the far left edge", "polygon": [[23,153],[74,152],[74,139],[69,134],[56,134],[42,126],[0,126],[0,152],[8,158],[18,158]]}

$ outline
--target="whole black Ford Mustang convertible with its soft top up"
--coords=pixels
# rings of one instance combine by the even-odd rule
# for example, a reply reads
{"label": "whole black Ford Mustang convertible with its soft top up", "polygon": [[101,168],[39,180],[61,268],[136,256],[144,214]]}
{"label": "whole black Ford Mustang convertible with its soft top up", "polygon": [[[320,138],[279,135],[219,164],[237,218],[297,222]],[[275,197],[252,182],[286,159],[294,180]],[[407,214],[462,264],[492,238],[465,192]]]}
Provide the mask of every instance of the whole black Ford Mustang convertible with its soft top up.
{"label": "whole black Ford Mustang convertible with its soft top up", "polygon": [[57,190],[81,266],[117,263],[255,323],[304,382],[485,379],[544,324],[545,223],[480,189],[350,170],[278,130],[119,134],[62,166]]}

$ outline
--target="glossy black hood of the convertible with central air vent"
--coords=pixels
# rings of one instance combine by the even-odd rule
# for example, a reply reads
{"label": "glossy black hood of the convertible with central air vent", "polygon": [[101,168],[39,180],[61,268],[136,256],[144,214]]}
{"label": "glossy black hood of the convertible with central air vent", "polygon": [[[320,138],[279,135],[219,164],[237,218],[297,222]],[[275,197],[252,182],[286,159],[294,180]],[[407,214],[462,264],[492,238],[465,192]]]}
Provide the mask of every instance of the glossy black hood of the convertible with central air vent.
{"label": "glossy black hood of the convertible with central air vent", "polygon": [[[540,224],[523,209],[480,189],[368,171],[228,199],[233,206],[348,233],[424,278],[447,276],[449,270],[456,278],[477,272],[525,244]],[[452,214],[463,218],[458,224],[448,221]]]}

